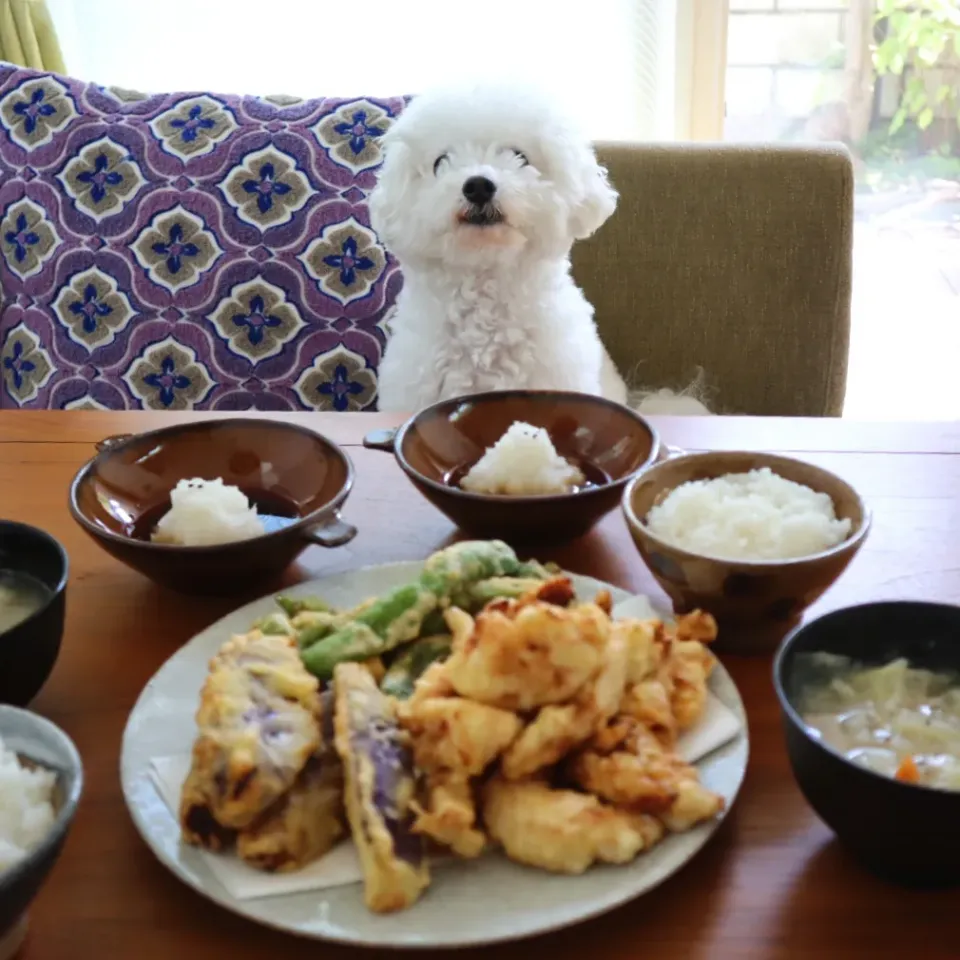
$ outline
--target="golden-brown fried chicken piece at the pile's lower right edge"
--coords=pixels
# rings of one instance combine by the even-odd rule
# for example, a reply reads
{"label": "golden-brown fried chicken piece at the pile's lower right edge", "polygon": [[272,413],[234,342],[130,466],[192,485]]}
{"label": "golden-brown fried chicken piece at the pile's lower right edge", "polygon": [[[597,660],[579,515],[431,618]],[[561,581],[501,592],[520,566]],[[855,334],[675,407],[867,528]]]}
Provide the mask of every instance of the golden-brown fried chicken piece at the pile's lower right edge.
{"label": "golden-brown fried chicken piece at the pile's lower right edge", "polygon": [[577,784],[611,803],[660,816],[671,829],[689,829],[723,809],[723,798],[700,784],[695,767],[642,724],[628,726],[617,749],[585,750],[571,760],[568,772]]}

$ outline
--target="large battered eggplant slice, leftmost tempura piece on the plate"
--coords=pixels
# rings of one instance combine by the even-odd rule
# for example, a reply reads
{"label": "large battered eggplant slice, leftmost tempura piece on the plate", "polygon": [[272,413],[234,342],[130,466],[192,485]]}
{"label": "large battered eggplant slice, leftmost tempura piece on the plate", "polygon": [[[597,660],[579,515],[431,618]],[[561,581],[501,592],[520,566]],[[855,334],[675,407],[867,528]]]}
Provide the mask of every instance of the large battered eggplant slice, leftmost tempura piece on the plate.
{"label": "large battered eggplant slice, leftmost tempura piece on the plate", "polygon": [[320,743],[316,679],[293,638],[233,637],[210,661],[180,800],[188,843],[222,849],[294,784]]}

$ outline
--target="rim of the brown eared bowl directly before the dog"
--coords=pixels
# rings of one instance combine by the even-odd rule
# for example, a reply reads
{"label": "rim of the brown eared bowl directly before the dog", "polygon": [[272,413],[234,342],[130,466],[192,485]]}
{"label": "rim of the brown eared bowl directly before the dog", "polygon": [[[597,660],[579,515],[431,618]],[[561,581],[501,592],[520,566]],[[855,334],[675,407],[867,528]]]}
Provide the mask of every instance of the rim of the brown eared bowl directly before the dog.
{"label": "rim of the brown eared bowl directly before the dog", "polygon": [[[531,397],[542,399],[555,398],[558,401],[568,400],[579,403],[586,402],[588,404],[607,407],[611,410],[617,411],[618,413],[627,414],[631,420],[646,430],[646,432],[650,435],[650,453],[647,455],[647,459],[640,464],[640,466],[631,470],[629,473],[624,474],[622,477],[618,477],[615,480],[610,480],[607,483],[599,484],[594,487],[584,487],[581,490],[572,490],[568,493],[525,494],[518,497],[499,493],[473,493],[470,490],[464,490],[461,487],[454,487],[448,483],[440,483],[438,480],[433,480],[425,474],[422,474],[407,460],[406,454],[403,450],[403,445],[407,434],[411,430],[418,428],[423,419],[425,419],[429,414],[437,411],[440,407],[446,407],[450,406],[451,404],[458,403],[483,403],[491,399],[526,399]],[[461,397],[451,397],[448,400],[440,400],[437,403],[431,404],[429,407],[424,407],[422,410],[408,417],[407,420],[405,420],[397,430],[397,435],[393,444],[393,450],[397,459],[397,463],[400,464],[403,472],[406,473],[411,480],[414,480],[417,483],[425,484],[432,490],[436,490],[438,493],[449,494],[454,497],[459,497],[464,501],[472,501],[474,503],[515,503],[518,505],[529,506],[530,504],[537,503],[560,503],[569,502],[573,499],[582,501],[596,499],[604,495],[609,496],[611,490],[617,490],[621,487],[624,487],[644,470],[650,469],[650,467],[657,461],[657,456],[660,452],[660,445],[660,434],[657,432],[656,427],[654,427],[646,417],[637,413],[635,410],[632,410],[625,404],[617,403],[615,400],[609,400],[606,397],[599,397],[591,393],[579,393],[576,390],[487,390],[483,393],[467,393]]]}

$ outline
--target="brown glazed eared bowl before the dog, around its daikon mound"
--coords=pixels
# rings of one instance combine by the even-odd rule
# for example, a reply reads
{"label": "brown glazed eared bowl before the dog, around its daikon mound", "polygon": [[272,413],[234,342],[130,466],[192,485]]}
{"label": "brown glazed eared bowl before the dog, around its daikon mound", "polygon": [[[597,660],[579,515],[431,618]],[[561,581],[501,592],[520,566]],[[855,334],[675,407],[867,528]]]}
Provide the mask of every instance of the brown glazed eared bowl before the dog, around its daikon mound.
{"label": "brown glazed eared bowl before the dog, around its daikon mound", "polygon": [[[516,421],[543,427],[557,452],[598,483],[572,493],[508,497],[468,493],[455,476],[473,466]],[[445,400],[364,444],[393,450],[414,486],[458,527],[512,543],[563,541],[586,533],[619,502],[624,486],[660,447],[643,417],[582,393],[509,390]],[[601,482],[602,481],[602,482]]]}

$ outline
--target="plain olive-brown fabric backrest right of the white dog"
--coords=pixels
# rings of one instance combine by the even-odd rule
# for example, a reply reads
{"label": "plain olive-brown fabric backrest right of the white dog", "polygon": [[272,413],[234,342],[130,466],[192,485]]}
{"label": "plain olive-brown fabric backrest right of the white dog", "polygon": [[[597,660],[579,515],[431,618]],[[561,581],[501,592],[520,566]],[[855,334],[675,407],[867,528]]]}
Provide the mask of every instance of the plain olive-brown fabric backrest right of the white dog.
{"label": "plain olive-brown fabric backrest right of the white dog", "polygon": [[838,416],[853,171],[843,147],[600,144],[620,203],[574,275],[631,385],[703,368],[718,412]]}

